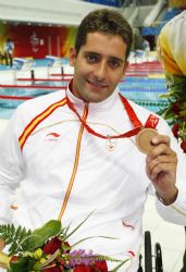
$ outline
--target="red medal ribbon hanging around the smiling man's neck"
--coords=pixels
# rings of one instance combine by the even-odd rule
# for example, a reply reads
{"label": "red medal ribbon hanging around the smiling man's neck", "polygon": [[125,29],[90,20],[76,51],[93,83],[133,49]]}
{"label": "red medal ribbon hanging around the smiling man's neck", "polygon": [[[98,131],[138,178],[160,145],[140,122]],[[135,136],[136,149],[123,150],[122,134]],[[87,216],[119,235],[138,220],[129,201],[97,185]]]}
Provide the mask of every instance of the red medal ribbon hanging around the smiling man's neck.
{"label": "red medal ribbon hanging around the smiling man's neck", "polygon": [[129,120],[132,121],[133,125],[135,126],[134,129],[128,131],[126,133],[120,134],[120,135],[113,135],[113,136],[104,136],[102,134],[99,134],[97,132],[95,132],[87,123],[86,121],[84,121],[80,115],[78,114],[77,110],[75,109],[74,104],[70,101],[69,98],[66,98],[66,102],[69,108],[77,115],[78,120],[80,121],[80,123],[84,125],[84,127],[87,129],[88,133],[99,137],[99,138],[103,138],[103,139],[115,139],[115,138],[128,138],[132,136],[135,136],[138,134],[138,132],[144,127],[141,122],[138,120],[136,113],[134,112],[132,106],[128,103],[127,99],[125,97],[123,97],[121,94],[119,95],[124,107],[125,110],[128,114]]}

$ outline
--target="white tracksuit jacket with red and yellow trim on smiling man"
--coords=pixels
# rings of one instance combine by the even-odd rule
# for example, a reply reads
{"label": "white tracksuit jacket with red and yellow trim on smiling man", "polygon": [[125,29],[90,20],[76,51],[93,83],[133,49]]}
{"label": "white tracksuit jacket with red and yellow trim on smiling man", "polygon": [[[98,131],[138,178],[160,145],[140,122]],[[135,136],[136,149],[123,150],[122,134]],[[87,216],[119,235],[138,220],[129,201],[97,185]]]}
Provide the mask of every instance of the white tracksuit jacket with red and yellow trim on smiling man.
{"label": "white tracksuit jacket with red and yellow trim on smiling man", "polygon": [[[153,194],[146,154],[138,151],[135,136],[102,139],[88,133],[66,97],[98,133],[111,136],[134,128],[117,89],[107,100],[90,103],[87,116],[84,102],[69,89],[21,104],[0,139],[0,220],[35,228],[62,218],[63,225],[71,222],[73,228],[94,211],[70,244],[88,236],[115,237],[88,239],[78,248],[121,258],[133,251],[136,257],[121,271],[136,272],[144,206],[148,193]],[[150,112],[131,104],[145,124]],[[161,118],[157,129],[171,137],[178,154],[177,199],[170,207],[157,200],[157,208],[165,220],[186,225],[186,159]]]}

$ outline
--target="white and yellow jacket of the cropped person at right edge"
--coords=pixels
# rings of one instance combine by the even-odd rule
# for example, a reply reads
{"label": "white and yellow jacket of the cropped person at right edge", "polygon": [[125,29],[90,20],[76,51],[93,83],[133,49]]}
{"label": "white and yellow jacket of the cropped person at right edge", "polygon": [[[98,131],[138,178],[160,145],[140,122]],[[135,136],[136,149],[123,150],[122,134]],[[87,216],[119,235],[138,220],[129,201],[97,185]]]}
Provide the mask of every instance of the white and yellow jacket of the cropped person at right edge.
{"label": "white and yellow jacket of the cropped person at right edge", "polygon": [[186,87],[186,11],[173,17],[158,38],[158,57],[165,70],[170,89]]}

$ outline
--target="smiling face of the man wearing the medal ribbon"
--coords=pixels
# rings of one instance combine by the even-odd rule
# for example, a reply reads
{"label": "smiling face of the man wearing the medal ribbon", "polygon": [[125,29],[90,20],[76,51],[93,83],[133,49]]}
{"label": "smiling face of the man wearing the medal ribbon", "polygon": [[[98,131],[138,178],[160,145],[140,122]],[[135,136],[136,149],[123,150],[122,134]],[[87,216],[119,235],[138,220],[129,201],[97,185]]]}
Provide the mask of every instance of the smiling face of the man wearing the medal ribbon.
{"label": "smiling face of the man wearing the medal ribbon", "polygon": [[100,102],[114,91],[124,76],[126,45],[119,35],[89,33],[78,54],[70,51],[74,66],[73,94],[86,102]]}

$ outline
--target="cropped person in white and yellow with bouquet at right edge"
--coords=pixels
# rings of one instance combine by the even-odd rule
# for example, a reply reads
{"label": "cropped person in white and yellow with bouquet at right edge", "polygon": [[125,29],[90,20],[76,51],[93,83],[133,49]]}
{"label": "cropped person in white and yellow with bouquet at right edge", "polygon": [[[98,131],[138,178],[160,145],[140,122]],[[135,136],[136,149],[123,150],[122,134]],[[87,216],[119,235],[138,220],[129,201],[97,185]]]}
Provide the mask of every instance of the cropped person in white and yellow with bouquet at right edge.
{"label": "cropped person in white and yellow with bouquet at right edge", "polygon": [[[168,107],[160,113],[186,153],[186,11],[169,21],[158,38],[158,57],[165,71]],[[186,156],[186,154],[185,154]],[[186,227],[185,227],[186,231]],[[186,271],[186,251],[184,267]]]}

